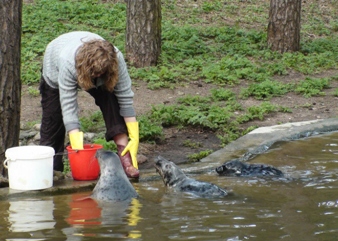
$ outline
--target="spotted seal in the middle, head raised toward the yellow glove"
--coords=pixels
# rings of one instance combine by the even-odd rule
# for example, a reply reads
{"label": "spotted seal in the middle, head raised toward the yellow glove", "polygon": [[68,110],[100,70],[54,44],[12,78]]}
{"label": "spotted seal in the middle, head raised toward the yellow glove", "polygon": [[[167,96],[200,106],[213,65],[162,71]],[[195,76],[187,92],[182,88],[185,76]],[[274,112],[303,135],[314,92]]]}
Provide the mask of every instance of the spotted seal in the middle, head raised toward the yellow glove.
{"label": "spotted seal in the middle, head raised toward the yellow glove", "polygon": [[202,197],[222,197],[227,194],[227,191],[215,184],[188,178],[178,166],[161,156],[155,158],[154,166],[162,177],[164,184],[173,187],[175,190]]}

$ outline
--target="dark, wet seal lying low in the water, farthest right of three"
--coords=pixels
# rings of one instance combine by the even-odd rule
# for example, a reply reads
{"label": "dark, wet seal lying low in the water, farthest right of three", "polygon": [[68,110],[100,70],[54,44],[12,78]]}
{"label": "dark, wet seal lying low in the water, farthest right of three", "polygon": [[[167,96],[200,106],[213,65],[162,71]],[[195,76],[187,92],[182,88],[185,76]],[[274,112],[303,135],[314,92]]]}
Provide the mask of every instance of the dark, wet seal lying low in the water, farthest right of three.
{"label": "dark, wet seal lying low in the water, farthest right of three", "polygon": [[216,168],[216,172],[222,176],[283,176],[283,172],[268,165],[245,164],[238,160],[223,163]]}

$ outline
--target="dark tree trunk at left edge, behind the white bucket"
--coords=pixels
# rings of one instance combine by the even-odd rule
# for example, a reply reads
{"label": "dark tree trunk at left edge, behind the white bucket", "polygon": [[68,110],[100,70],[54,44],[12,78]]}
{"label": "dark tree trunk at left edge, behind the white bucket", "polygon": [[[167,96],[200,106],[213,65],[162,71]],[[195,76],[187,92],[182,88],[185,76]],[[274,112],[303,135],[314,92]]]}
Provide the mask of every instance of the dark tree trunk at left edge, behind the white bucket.
{"label": "dark tree trunk at left edge, behind the white bucket", "polygon": [[19,144],[22,0],[0,1],[0,174],[6,149]]}

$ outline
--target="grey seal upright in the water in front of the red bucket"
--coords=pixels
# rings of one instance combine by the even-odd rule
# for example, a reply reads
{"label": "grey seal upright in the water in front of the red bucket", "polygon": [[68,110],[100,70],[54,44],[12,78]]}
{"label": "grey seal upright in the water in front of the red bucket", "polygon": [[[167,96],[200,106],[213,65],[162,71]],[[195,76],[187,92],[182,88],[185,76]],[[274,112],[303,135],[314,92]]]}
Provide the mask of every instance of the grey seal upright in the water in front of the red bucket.
{"label": "grey seal upright in the water in front of the red bucket", "polygon": [[115,152],[98,149],[95,157],[100,165],[101,176],[90,195],[92,199],[122,201],[138,197]]}

